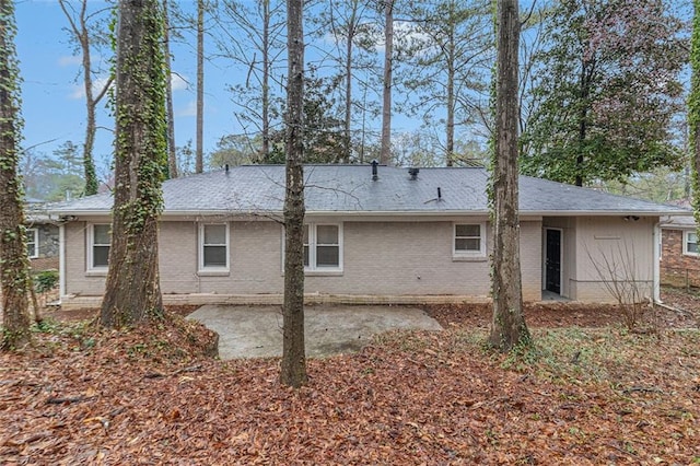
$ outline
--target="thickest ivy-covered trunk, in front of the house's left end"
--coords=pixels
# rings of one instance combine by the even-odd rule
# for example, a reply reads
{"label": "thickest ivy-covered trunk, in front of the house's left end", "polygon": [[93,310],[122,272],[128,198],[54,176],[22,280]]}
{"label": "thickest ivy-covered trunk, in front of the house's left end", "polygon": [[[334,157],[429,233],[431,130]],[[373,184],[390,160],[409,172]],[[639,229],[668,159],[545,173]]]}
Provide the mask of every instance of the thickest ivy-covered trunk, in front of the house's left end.
{"label": "thickest ivy-covered trunk, in front of the house's left end", "polygon": [[161,317],[158,220],[165,142],[163,13],[159,0],[120,0],[115,67],[116,154],[112,247],[100,322]]}

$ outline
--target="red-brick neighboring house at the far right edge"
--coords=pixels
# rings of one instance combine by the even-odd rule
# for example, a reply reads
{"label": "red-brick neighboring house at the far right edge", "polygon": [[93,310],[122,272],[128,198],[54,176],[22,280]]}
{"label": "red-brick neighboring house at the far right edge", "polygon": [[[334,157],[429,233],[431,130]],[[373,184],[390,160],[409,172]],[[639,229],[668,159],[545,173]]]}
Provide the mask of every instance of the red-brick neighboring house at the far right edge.
{"label": "red-brick neighboring house at the far right edge", "polygon": [[700,287],[698,225],[691,214],[661,221],[661,282],[674,287]]}

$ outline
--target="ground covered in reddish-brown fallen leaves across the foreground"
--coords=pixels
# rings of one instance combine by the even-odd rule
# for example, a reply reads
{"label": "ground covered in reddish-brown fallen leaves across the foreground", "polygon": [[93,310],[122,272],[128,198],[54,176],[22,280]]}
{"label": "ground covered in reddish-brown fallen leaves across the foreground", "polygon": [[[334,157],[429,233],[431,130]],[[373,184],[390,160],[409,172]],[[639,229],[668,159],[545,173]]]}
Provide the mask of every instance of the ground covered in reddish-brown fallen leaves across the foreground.
{"label": "ground covered in reddish-brown fallen leaves across the foreground", "polygon": [[279,385],[278,359],[205,356],[212,335],[178,316],[124,333],[49,323],[0,354],[0,464],[700,462],[691,321],[632,334],[609,308],[595,328],[576,325],[585,308],[533,311],[535,349],[503,356],[469,307],[432,311],[445,331],[311,360],[300,391]]}

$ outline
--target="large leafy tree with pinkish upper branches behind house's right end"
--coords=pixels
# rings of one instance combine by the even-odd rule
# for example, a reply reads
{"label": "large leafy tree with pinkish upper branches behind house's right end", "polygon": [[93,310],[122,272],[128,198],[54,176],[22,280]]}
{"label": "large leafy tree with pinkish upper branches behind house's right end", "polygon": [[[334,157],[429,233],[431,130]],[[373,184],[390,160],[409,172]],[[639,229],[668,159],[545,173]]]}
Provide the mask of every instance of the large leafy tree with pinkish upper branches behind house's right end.
{"label": "large leafy tree with pinkish upper branches behind house's right end", "polygon": [[563,1],[538,55],[523,173],[581,185],[677,166],[681,26],[662,2]]}

